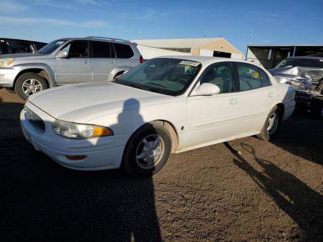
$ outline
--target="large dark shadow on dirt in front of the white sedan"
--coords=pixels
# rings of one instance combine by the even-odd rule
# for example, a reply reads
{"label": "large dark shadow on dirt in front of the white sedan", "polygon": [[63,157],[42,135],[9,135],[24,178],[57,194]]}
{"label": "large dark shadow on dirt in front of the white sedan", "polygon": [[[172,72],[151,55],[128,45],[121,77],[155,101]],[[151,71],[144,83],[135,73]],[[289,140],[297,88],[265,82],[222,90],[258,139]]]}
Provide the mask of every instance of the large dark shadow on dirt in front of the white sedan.
{"label": "large dark shadow on dirt in front of the white sedan", "polygon": [[151,178],[62,167],[24,138],[17,118],[22,108],[0,102],[0,110],[10,110],[0,116],[2,240],[161,240]]}

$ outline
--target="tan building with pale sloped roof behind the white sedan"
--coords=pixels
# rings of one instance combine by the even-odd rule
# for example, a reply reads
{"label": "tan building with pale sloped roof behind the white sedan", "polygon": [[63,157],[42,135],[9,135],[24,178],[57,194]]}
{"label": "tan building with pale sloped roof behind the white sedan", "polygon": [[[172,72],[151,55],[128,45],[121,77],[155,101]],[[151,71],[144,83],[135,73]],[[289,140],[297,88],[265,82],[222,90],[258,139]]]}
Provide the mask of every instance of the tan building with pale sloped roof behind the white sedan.
{"label": "tan building with pale sloped roof behind the white sedan", "polygon": [[135,39],[132,42],[190,55],[243,59],[243,53],[224,38]]}

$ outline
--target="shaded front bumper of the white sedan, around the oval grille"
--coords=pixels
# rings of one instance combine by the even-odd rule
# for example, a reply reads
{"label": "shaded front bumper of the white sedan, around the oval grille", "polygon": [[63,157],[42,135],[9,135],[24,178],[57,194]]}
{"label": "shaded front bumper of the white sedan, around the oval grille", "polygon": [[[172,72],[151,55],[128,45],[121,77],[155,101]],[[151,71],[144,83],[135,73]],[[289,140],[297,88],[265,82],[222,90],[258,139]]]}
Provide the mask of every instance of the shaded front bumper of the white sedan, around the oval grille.
{"label": "shaded front bumper of the white sedan, around the oval grille", "polygon": [[[91,139],[68,139],[54,134],[51,123],[55,118],[31,103],[26,106],[44,120],[45,132],[35,131],[25,120],[24,110],[20,113],[20,123],[25,138],[51,159],[76,170],[102,170],[119,168],[124,147],[131,134],[114,135]],[[83,160],[69,160],[66,155],[86,155]]]}

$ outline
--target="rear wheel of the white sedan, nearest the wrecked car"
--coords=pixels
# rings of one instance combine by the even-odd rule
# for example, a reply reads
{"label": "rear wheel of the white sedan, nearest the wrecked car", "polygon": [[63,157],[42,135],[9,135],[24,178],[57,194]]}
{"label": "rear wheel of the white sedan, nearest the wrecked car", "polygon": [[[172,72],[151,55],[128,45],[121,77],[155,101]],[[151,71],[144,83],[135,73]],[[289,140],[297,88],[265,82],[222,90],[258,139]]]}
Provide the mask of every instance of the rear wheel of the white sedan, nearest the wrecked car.
{"label": "rear wheel of the white sedan, nearest the wrecked car", "polygon": [[[281,126],[282,117],[283,117],[282,110],[278,106],[273,107],[264,122],[264,125],[261,129],[260,134],[256,135],[257,138],[268,141],[271,138],[275,137],[275,135],[277,134],[277,131]],[[275,122],[275,120],[277,123]]]}

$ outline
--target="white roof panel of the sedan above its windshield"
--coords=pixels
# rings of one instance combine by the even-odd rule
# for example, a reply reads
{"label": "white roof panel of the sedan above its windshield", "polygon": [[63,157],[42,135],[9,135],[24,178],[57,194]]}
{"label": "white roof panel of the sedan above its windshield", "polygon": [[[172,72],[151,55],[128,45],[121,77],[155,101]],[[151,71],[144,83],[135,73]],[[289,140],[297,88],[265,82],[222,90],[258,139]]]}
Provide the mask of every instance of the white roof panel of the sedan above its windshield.
{"label": "white roof panel of the sedan above its windshield", "polygon": [[210,65],[212,63],[217,63],[217,62],[242,62],[242,63],[251,64],[254,66],[259,66],[252,62],[243,61],[242,59],[232,59],[232,58],[213,57],[213,56],[166,55],[166,56],[160,56],[157,58],[187,59],[188,61],[199,62],[206,65]]}

